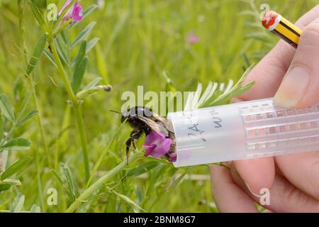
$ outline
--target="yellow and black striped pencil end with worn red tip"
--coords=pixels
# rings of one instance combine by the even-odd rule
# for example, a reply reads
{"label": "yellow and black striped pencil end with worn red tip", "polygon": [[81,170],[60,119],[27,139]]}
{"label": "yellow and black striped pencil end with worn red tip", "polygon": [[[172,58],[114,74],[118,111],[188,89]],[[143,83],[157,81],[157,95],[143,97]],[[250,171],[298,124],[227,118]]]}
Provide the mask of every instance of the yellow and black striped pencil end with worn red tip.
{"label": "yellow and black striped pencil end with worn red tip", "polygon": [[267,12],[262,19],[262,26],[278,35],[294,48],[298,47],[300,35],[302,33],[301,29],[281,16],[279,13],[274,11]]}

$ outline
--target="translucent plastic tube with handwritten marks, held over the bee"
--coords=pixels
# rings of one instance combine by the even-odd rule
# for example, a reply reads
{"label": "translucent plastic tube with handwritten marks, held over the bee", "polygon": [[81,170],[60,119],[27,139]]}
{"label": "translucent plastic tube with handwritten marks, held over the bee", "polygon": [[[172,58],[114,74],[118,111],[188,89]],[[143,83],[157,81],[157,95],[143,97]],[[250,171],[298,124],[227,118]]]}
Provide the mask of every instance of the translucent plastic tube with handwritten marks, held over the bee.
{"label": "translucent plastic tube with handwritten marks, held over the bee", "polygon": [[319,104],[284,109],[272,99],[169,113],[175,167],[319,150]]}

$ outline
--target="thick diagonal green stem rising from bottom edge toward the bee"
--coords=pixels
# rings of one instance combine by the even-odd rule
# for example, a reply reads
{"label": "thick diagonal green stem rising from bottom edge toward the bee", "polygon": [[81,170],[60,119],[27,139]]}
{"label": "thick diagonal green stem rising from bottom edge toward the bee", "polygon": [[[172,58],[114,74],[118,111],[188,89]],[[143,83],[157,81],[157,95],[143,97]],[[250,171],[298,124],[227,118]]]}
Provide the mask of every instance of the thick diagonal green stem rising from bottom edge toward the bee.
{"label": "thick diagonal green stem rising from bottom edge toward the bee", "polygon": [[[134,162],[138,160],[140,157],[142,157],[141,152],[136,152],[133,155],[130,156],[129,162]],[[67,213],[74,212],[76,209],[81,206],[82,203],[84,203],[87,199],[89,199],[89,196],[99,190],[103,184],[108,182],[108,180],[111,179],[114,175],[118,174],[118,172],[121,172],[121,170],[124,169],[124,167],[127,167],[126,160],[121,162],[119,165],[114,167],[112,170],[108,171],[105,175],[100,177],[94,184],[92,184],[90,187],[88,187],[67,209]]]}

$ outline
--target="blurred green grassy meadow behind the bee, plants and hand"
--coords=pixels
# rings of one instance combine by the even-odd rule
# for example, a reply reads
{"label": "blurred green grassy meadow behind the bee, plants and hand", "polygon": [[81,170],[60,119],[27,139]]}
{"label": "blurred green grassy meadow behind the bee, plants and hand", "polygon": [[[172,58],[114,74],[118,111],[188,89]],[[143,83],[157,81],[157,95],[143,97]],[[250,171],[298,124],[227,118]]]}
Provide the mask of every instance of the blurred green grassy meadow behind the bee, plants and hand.
{"label": "blurred green grassy meadow behind the bee, plants and hand", "polygon": [[[174,87],[180,91],[193,91],[198,82],[237,81],[245,69],[258,62],[278,40],[260,26],[259,6],[262,3],[296,21],[318,2],[80,1],[84,9],[92,4],[99,6],[70,30],[72,40],[91,21],[96,21],[87,39],[97,37],[99,42],[89,52],[84,84],[101,77],[101,84],[113,86],[113,92],[100,92],[82,104],[90,166],[93,167],[101,153],[106,152],[94,182],[126,158],[124,143],[130,128],[123,126],[117,134],[120,116],[109,111],[121,109],[121,94],[136,92],[138,85],[143,85],[145,92],[164,91],[167,79],[163,72],[167,72]],[[38,109],[40,115],[37,118],[40,117],[43,123],[48,152],[35,118],[13,131],[14,137],[28,138],[32,145],[29,150],[11,150],[9,164],[26,156],[33,160],[13,175],[18,183],[0,192],[0,210],[12,211],[19,201],[15,200],[16,196],[21,199],[23,194],[24,203],[19,211],[30,211],[36,204],[41,211],[63,212],[86,188],[82,150],[73,112],[67,104],[67,92],[55,66],[45,55],[40,57],[34,71],[38,108],[32,98],[29,101],[26,98],[30,86],[24,77],[23,39],[28,52],[32,52],[43,32],[27,1],[23,7],[25,38],[19,26],[18,1],[0,0],[0,93],[9,96],[16,112],[25,104],[26,110]],[[198,42],[189,43],[189,35],[198,37]],[[71,51],[72,56],[76,53]],[[140,145],[142,142],[138,147]],[[142,174],[130,172],[145,162],[149,165],[146,171],[140,172]],[[208,174],[207,166],[177,170],[172,164],[145,157],[125,167],[83,201],[77,211],[217,212]],[[56,206],[47,204],[50,188],[57,189]]]}

